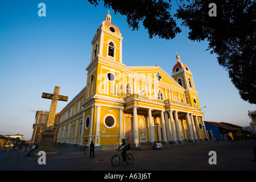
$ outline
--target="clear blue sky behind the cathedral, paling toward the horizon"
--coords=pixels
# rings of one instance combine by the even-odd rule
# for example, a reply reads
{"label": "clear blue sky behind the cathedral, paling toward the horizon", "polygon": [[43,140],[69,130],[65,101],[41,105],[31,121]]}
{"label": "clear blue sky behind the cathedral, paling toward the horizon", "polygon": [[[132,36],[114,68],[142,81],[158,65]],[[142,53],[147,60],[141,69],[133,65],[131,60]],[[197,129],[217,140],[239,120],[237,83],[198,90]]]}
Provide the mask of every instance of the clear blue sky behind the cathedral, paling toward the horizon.
{"label": "clear blue sky behind the cathedral, paling toward the horizon", "polygon": [[[38,16],[41,2],[46,4],[46,17]],[[193,73],[201,107],[207,106],[205,121],[249,125],[247,110],[256,106],[240,98],[216,55],[205,51],[208,43],[189,40],[187,28],[181,27],[183,32],[172,40],[149,39],[143,26],[132,31],[126,17],[115,15],[102,1],[94,7],[85,0],[1,0],[0,134],[19,133],[30,139],[35,111],[51,105],[51,100],[41,98],[43,92],[53,93],[60,86],[69,102],[84,88],[91,41],[108,10],[123,36],[123,64],[159,65],[171,75],[177,51]],[[59,101],[57,111],[68,102]]]}

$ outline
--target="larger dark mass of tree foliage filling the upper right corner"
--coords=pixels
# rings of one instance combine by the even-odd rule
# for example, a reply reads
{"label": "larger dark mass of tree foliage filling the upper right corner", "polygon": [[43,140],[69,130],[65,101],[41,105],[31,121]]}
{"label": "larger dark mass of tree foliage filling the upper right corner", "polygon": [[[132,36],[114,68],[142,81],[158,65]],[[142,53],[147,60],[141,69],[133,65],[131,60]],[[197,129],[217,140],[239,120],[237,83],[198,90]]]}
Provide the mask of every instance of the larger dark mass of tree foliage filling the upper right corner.
{"label": "larger dark mass of tree foliage filling the upper right corner", "polygon": [[[239,90],[243,100],[256,104],[256,19],[255,1],[187,1],[176,16],[191,30],[190,40],[208,40],[210,53],[216,53]],[[217,16],[209,16],[209,4],[217,5]]]}

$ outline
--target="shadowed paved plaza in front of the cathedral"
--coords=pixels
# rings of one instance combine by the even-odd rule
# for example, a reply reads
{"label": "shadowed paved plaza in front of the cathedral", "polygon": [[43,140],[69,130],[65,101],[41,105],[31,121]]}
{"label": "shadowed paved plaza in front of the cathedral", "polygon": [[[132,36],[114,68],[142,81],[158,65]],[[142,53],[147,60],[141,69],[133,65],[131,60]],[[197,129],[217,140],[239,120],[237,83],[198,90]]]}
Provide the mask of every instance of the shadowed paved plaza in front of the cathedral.
{"label": "shadowed paved plaza in front of the cathedral", "polygon": [[[27,156],[24,148],[0,150],[1,171],[255,171],[253,147],[256,140],[212,141],[174,144],[162,150],[146,148],[130,150],[132,164],[113,167],[110,160],[117,151],[98,151],[95,158],[77,148],[59,146],[57,155],[46,155],[46,164],[39,164],[40,156]],[[216,164],[209,164],[210,151],[216,152]]]}

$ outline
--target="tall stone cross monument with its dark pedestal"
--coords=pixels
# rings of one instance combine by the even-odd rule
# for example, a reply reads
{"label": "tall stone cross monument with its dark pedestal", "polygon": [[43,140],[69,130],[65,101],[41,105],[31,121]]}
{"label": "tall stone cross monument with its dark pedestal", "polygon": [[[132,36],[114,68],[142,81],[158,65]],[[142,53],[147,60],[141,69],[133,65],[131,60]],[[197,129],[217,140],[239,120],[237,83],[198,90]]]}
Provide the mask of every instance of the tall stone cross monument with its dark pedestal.
{"label": "tall stone cross monument with its dark pedestal", "polygon": [[58,150],[56,148],[53,148],[54,143],[54,136],[55,133],[53,132],[53,125],[55,121],[55,114],[56,114],[56,108],[57,108],[57,101],[68,101],[67,96],[61,96],[59,95],[60,87],[55,86],[54,93],[43,93],[42,98],[48,98],[52,100],[51,107],[49,109],[49,116],[48,121],[46,125],[46,130],[42,133],[42,140],[40,147],[32,152],[33,156],[38,155],[39,151],[44,151],[48,155],[57,154]]}

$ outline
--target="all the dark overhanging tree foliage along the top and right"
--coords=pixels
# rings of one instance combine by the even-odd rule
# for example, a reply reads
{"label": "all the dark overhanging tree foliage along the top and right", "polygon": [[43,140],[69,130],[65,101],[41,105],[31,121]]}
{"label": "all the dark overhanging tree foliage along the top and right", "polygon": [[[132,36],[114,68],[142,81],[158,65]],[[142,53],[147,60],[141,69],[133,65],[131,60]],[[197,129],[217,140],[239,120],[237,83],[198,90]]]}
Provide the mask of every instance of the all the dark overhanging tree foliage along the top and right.
{"label": "all the dark overhanging tree foliage along the top and right", "polygon": [[[100,0],[88,0],[98,5]],[[181,32],[170,14],[170,1],[162,0],[103,0],[106,7],[125,15],[133,30],[143,22],[150,38],[173,39]],[[216,53],[243,100],[256,104],[256,20],[255,0],[176,0],[175,16],[189,27],[188,38],[208,40],[210,53]],[[217,5],[217,16],[209,16],[209,4]]]}

